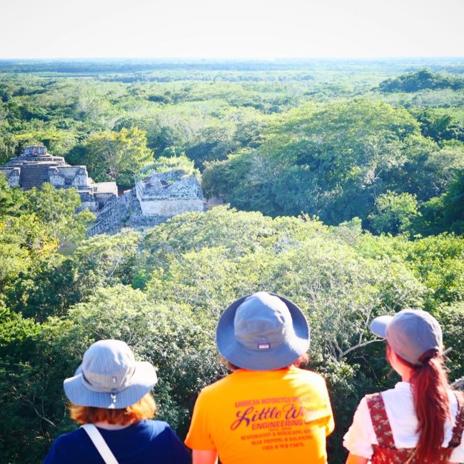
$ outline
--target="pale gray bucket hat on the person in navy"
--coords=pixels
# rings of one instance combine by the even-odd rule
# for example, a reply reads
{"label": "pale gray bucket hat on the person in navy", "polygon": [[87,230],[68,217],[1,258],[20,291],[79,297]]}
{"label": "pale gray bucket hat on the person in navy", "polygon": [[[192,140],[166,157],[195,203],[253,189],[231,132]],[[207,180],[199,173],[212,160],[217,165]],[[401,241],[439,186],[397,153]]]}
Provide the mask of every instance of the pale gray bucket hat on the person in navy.
{"label": "pale gray bucket hat on the person in navy", "polygon": [[136,361],[126,343],[101,340],[86,350],[74,377],[66,378],[63,387],[75,405],[120,409],[141,400],[157,381],[153,365]]}

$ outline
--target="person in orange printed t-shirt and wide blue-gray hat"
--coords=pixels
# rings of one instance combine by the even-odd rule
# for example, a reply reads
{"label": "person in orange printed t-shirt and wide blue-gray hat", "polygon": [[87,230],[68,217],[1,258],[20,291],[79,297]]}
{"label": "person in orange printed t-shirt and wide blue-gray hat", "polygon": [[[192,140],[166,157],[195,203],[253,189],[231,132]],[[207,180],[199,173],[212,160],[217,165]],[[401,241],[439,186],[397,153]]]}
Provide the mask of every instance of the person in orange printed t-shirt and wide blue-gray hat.
{"label": "person in orange printed t-shirt and wide blue-gray hat", "polygon": [[253,293],[224,311],[216,342],[233,372],[198,395],[185,441],[193,464],[327,463],[326,382],[298,368],[309,341],[308,321],[283,296]]}

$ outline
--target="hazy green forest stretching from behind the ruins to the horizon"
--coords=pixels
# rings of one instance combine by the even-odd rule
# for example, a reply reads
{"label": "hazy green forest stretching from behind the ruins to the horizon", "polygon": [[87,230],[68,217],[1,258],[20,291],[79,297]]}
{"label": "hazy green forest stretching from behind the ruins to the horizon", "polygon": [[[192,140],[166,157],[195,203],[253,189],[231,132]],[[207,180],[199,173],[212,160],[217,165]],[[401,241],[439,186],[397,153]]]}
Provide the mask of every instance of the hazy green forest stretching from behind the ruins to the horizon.
{"label": "hazy green forest stretching from behind the ruins to the horizon", "polygon": [[[279,63],[305,61],[267,64]],[[96,181],[130,188],[144,163],[187,156],[203,172],[206,196],[241,210],[306,213],[332,225],[358,217],[374,233],[463,233],[463,77],[420,69],[390,78],[375,72],[378,64],[353,71],[358,62],[343,72],[331,67],[339,65],[90,79],[0,74],[0,163],[44,143],[85,164]]]}

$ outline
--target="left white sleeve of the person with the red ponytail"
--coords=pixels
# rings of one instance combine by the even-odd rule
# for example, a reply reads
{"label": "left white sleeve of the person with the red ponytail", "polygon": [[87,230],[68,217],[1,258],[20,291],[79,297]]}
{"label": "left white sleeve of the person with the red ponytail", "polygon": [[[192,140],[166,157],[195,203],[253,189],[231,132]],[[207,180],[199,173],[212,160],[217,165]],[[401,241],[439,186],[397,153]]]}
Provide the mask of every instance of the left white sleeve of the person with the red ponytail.
{"label": "left white sleeve of the person with the red ponytail", "polygon": [[368,403],[363,398],[353,417],[348,432],[343,437],[343,446],[353,455],[371,458],[374,453],[372,445],[377,445],[372,420],[370,420]]}

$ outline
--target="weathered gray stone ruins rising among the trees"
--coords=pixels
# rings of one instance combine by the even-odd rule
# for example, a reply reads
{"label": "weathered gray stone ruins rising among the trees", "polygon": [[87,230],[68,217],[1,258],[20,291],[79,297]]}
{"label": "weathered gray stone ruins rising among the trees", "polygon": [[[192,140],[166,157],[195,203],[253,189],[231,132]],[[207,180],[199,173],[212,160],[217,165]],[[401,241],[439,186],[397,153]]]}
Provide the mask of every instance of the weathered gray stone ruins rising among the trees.
{"label": "weathered gray stone ruins rising among the trees", "polygon": [[70,166],[62,156],[47,153],[44,146],[26,147],[20,156],[0,166],[0,173],[9,186],[22,190],[41,188],[45,182],[56,188],[76,188],[81,208],[96,215],[89,236],[117,233],[125,227],[143,230],[176,214],[204,211],[200,181],[181,169],[153,172],[120,197],[116,183],[94,183],[86,166]]}

